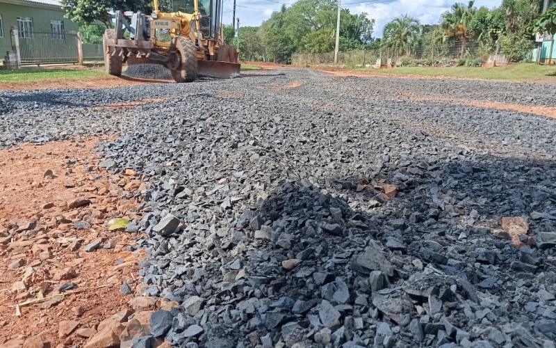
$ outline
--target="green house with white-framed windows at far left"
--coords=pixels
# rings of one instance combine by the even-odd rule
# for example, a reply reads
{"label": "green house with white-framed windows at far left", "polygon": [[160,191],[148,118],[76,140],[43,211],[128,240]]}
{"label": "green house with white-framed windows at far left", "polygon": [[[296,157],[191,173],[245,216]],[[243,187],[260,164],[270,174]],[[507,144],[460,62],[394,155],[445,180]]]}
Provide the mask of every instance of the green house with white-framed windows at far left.
{"label": "green house with white-framed windows at far left", "polygon": [[64,14],[57,0],[0,0],[0,56],[12,49],[12,26],[19,29],[19,38],[27,38],[33,30],[51,31],[53,39],[63,31],[78,31],[78,24]]}

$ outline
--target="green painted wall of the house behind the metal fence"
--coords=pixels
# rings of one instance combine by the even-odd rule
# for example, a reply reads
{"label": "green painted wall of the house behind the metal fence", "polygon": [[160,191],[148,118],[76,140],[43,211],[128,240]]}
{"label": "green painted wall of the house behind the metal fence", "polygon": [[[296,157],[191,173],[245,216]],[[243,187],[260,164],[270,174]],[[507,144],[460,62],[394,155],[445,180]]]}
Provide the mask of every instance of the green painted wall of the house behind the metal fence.
{"label": "green painted wall of the house behind the metal fence", "polygon": [[[65,31],[78,31],[79,26],[64,18],[65,11],[56,6],[44,5],[42,3],[31,3],[28,1],[21,1],[28,3],[25,5],[3,2],[0,0],[0,16],[2,17],[3,38],[0,38],[0,61],[6,54],[6,51],[12,49],[12,42],[10,39],[10,28],[17,26],[17,17],[31,17],[33,19],[33,29],[50,30],[50,21],[59,20],[63,21]],[[24,40],[24,39],[22,39]]]}

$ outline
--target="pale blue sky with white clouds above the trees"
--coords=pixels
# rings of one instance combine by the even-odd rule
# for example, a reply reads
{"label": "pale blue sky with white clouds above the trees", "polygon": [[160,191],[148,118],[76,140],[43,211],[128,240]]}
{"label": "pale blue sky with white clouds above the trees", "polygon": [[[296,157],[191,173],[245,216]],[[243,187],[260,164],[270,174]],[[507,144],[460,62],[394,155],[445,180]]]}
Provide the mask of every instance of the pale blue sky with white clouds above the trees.
{"label": "pale blue sky with white clouds above the trees", "polygon": [[[236,0],[236,18],[241,26],[259,26],[268,19],[272,11],[279,10],[282,3],[288,6],[295,0]],[[375,19],[373,36],[382,37],[384,25],[400,15],[409,15],[419,19],[420,24],[438,24],[440,16],[450,10],[455,2],[467,0],[342,0],[342,8],[349,8],[351,13],[367,13]],[[476,0],[475,6],[493,8],[500,6],[502,0]],[[234,0],[224,0],[224,24],[232,21]]]}

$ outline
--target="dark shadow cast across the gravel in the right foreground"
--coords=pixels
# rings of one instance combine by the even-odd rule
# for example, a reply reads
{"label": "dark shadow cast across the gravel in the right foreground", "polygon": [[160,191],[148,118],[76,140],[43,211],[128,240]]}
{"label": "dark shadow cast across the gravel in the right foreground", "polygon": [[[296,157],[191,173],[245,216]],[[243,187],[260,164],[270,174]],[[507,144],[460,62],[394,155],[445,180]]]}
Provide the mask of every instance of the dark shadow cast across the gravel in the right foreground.
{"label": "dark shadow cast across the gravel in the right foreground", "polygon": [[[334,269],[334,262],[329,268],[327,262],[318,261],[320,258],[328,256],[336,264],[345,263],[347,260],[333,254],[350,251],[344,255],[348,258],[368,240],[391,255],[411,255],[475,286],[492,273],[477,269],[474,262],[455,269],[448,260],[455,258],[464,264],[482,260],[475,255],[476,250],[502,247],[497,251],[500,258],[492,260],[492,265],[513,278],[523,277],[521,269],[510,268],[512,261],[523,259],[523,250],[529,253],[528,260],[534,260],[535,271],[555,254],[553,244],[543,244],[539,235],[555,230],[556,161],[477,156],[473,162],[421,161],[409,166],[384,164],[379,169],[370,175],[373,177],[330,178],[318,186],[309,180],[302,180],[302,185],[288,183],[281,192],[264,200],[249,217],[261,216],[261,225],[272,221],[272,230],[264,238],[273,242],[275,251],[253,264],[270,261],[275,267],[254,267],[254,273],[270,277],[269,282],[280,277],[290,279],[272,285],[274,291],[306,301],[312,296],[311,292],[300,292],[307,285],[306,278],[318,267],[320,271]],[[398,187],[395,198],[389,199],[379,191],[383,182]],[[505,216],[527,220],[529,235],[537,239],[539,248],[526,246],[520,250],[494,234],[493,230],[501,230],[500,219]],[[427,242],[430,240],[434,242]],[[523,242],[528,242],[527,237]],[[259,246],[264,248],[263,244]],[[292,271],[293,276],[277,267],[289,259],[306,260],[301,269]],[[534,277],[532,273],[530,278]],[[409,274],[398,276],[407,278]],[[492,293],[501,294],[502,290],[498,285],[489,287]]]}

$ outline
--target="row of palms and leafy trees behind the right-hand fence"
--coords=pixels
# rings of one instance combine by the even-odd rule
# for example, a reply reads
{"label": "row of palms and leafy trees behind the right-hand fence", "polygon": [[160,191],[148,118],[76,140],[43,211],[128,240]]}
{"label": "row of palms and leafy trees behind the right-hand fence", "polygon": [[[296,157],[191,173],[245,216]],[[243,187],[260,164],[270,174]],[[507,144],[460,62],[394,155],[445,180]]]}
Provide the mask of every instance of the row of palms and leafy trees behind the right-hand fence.
{"label": "row of palms and leafy trees behind the right-hand fence", "polygon": [[413,56],[456,48],[459,56],[468,47],[500,52],[511,61],[522,61],[534,47],[531,24],[541,14],[542,0],[502,0],[498,8],[476,8],[475,1],[454,3],[439,24],[420,25],[407,15],[384,26],[382,46],[398,56]]}

